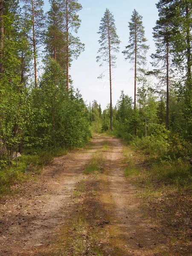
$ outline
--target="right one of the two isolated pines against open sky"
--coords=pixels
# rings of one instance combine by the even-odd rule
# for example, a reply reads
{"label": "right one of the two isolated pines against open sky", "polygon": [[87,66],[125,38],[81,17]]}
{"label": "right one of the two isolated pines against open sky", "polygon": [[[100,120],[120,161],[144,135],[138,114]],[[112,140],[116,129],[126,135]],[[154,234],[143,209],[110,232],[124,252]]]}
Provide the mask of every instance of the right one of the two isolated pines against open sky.
{"label": "right one of the two isolated pines against open sky", "polygon": [[146,62],[146,52],[149,46],[146,45],[147,39],[145,38],[145,30],[142,22],[143,17],[134,9],[131,16],[131,22],[129,22],[129,45],[126,46],[126,50],[122,53],[126,55],[125,60],[129,59],[131,63],[134,63],[134,107],[136,109],[136,94],[137,94],[137,72],[144,72],[142,66]]}

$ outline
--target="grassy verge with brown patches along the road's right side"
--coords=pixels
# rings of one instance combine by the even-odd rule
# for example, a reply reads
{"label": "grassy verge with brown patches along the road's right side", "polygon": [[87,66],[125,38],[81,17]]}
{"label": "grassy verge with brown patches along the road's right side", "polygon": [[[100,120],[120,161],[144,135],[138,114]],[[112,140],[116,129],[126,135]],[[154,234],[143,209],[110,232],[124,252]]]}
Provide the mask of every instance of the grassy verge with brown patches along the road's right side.
{"label": "grassy verge with brown patches along the road's right side", "polygon": [[139,189],[143,214],[166,234],[162,255],[191,255],[192,166],[185,158],[162,157],[157,151],[125,147],[125,176]]}

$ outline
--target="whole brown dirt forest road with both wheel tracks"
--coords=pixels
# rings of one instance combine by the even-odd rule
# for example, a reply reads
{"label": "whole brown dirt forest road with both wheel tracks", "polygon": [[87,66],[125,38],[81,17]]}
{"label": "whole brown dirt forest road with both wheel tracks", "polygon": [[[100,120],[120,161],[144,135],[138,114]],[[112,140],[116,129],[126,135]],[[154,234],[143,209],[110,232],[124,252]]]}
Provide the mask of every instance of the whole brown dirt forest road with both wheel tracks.
{"label": "whole brown dirt forest road with both wheel tracks", "polygon": [[[0,204],[0,256],[160,256],[163,238],[143,218],[137,189],[124,175],[123,147],[120,139],[94,134],[87,147],[55,158],[37,179],[17,185],[18,194]],[[102,172],[85,175],[98,154]],[[81,212],[89,227],[83,242],[90,230],[97,234],[95,253],[90,243],[78,251],[62,242],[76,237],[64,230]]]}

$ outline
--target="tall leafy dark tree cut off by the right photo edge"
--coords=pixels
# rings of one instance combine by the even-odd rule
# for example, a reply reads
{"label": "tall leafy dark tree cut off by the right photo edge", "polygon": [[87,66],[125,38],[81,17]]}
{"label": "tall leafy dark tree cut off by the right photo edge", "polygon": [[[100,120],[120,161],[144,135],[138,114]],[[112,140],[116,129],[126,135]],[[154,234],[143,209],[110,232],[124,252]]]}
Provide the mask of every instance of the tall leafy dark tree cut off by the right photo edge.
{"label": "tall leafy dark tree cut off by the right photo edge", "polygon": [[[183,113],[187,124],[186,134],[192,131],[192,1],[169,0],[169,12],[175,29],[173,41],[173,64],[177,70],[178,87],[183,101]],[[192,134],[190,135],[192,137]]]}

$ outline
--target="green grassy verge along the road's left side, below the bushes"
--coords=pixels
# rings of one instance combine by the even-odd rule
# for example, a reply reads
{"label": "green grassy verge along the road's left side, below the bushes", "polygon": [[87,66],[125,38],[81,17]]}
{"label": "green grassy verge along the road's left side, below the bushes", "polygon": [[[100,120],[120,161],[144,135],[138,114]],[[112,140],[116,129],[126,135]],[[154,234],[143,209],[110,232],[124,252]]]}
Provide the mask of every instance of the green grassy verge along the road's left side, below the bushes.
{"label": "green grassy verge along the road's left side, below the bushes", "polygon": [[22,154],[12,166],[6,166],[0,169],[0,195],[12,193],[12,186],[16,183],[22,183],[29,178],[38,175],[43,166],[52,162],[54,157],[66,154],[63,149],[54,149],[51,151],[33,152],[31,154]]}

